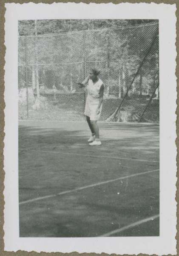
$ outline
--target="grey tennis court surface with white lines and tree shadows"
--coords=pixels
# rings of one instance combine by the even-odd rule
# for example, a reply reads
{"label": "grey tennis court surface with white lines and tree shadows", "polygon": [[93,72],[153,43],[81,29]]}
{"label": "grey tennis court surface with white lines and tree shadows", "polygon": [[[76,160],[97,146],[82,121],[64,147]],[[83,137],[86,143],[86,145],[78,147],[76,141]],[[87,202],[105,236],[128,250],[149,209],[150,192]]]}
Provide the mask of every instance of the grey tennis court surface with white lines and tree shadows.
{"label": "grey tennis court surface with white lines and tree shadows", "polygon": [[159,125],[19,122],[20,237],[159,236]]}

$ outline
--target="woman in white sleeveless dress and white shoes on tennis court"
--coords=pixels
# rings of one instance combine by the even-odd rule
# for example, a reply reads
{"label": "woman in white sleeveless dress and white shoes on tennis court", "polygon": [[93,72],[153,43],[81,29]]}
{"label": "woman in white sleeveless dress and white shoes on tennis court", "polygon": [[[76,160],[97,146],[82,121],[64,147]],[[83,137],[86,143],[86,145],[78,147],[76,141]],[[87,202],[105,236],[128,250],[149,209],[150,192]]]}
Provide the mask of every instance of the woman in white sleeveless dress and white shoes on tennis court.
{"label": "woman in white sleeveless dress and white shoes on tennis court", "polygon": [[98,77],[99,73],[99,70],[92,68],[89,76],[82,82],[87,92],[85,116],[91,130],[91,137],[88,140],[91,146],[101,145],[97,120],[99,120],[102,111],[104,84]]}

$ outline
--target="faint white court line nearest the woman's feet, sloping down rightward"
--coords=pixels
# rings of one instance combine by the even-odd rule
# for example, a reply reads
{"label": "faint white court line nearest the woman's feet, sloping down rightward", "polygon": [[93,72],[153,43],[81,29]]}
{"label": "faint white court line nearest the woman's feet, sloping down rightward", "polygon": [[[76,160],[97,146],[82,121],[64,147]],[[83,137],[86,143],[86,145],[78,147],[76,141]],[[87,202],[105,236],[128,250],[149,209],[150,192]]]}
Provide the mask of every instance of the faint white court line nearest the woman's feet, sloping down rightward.
{"label": "faint white court line nearest the woman's feet, sloping down rightward", "polygon": [[139,161],[139,162],[152,162],[152,163],[159,163],[159,161],[154,160],[145,160],[145,159],[133,159],[133,158],[125,158],[125,157],[108,157],[108,156],[99,156],[99,155],[88,155],[88,154],[77,154],[77,153],[67,153],[62,151],[46,151],[46,150],[34,150],[34,149],[24,149],[19,148],[19,150],[25,150],[25,151],[34,151],[34,152],[42,152],[42,153],[54,153],[54,154],[66,154],[66,155],[74,155],[74,156],[80,156],[80,157],[96,157],[96,158],[110,158],[110,159],[122,159],[122,160],[133,160],[133,161]]}

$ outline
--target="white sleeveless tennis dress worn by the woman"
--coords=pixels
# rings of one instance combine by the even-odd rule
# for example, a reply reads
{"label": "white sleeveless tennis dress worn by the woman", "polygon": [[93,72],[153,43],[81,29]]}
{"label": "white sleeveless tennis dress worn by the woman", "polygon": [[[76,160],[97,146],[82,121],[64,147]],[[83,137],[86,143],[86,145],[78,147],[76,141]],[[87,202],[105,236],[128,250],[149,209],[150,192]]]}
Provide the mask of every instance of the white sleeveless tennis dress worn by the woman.
{"label": "white sleeveless tennis dress worn by the woman", "polygon": [[86,87],[88,95],[86,98],[85,116],[89,116],[91,120],[99,120],[102,111],[101,104],[99,114],[96,114],[97,107],[99,105],[99,91],[102,84],[103,82],[101,79],[98,79],[95,83],[91,79],[88,80],[88,85]]}

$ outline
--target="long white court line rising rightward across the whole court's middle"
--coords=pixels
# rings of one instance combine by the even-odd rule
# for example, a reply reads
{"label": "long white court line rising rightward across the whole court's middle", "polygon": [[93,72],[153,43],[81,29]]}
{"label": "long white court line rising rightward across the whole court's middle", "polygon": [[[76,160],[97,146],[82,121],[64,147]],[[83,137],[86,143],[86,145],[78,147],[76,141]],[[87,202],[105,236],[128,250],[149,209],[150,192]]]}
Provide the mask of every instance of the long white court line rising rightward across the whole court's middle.
{"label": "long white court line rising rightward across the whole court's middle", "polygon": [[[148,174],[148,173],[157,172],[157,171],[159,171],[159,169],[148,171],[148,172],[139,172],[139,173],[136,173],[136,174],[116,178],[116,179],[113,179],[113,180],[106,180],[106,181],[94,183],[94,184],[91,184],[91,185],[82,186],[82,187],[77,188],[77,189],[71,189],[71,190],[63,191],[63,192],[58,193],[57,195],[65,195],[65,194],[68,194],[68,193],[71,193],[71,192],[79,191],[79,190],[82,190],[82,189],[88,189],[88,188],[91,188],[91,187],[94,187],[94,186],[99,186],[99,185],[110,183],[110,182],[113,182],[113,181],[116,181],[116,180],[124,180],[124,179],[131,178],[131,177],[134,177],[134,176],[139,176],[139,175]],[[57,195],[46,195],[46,196],[39,197],[39,198],[33,198],[33,199],[26,200],[26,201],[22,201],[19,204],[27,204],[27,203],[31,203],[31,202],[34,202],[34,201],[55,197]]]}

